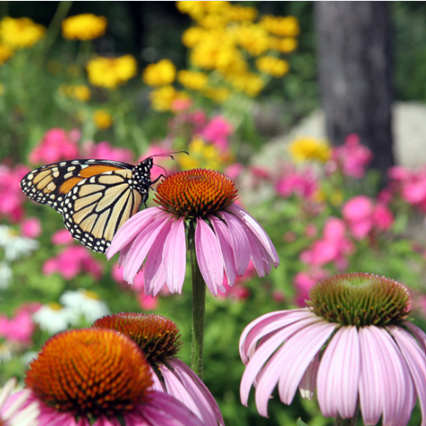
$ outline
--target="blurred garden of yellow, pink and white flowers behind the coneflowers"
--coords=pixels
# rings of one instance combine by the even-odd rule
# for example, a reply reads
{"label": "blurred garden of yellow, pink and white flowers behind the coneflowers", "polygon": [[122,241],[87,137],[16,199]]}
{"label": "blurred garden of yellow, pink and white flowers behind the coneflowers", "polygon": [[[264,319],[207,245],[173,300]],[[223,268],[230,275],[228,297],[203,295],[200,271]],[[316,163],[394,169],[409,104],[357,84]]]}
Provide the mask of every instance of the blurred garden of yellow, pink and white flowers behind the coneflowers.
{"label": "blurred garden of yellow, pink and white flowers behind the coneflowers", "polygon": [[[421,113],[426,5],[389,9],[394,100],[416,101]],[[81,23],[79,35],[67,33],[62,23],[78,14],[105,16],[105,33]],[[190,279],[182,295],[146,297],[142,273],[128,286],[116,259],[70,239],[59,214],[22,194],[23,175],[62,159],[136,164],[186,150],[154,162],[169,174],[231,176],[239,203],[271,236],[277,270],[259,279],[252,268],[227,293],[208,295],[204,380],[229,425],[332,424],[315,401],[275,397],[269,419],[253,395],[248,408],[239,401],[244,327],[304,306],[318,279],[366,271],[399,280],[426,329],[426,167],[384,175],[372,167],[384,152],[371,140],[347,134],[332,145],[294,130],[321,104],[314,14],[310,2],[0,3],[0,383],[22,378],[52,334],[124,311],[170,317],[190,363]],[[410,424],[419,419],[416,408]]]}

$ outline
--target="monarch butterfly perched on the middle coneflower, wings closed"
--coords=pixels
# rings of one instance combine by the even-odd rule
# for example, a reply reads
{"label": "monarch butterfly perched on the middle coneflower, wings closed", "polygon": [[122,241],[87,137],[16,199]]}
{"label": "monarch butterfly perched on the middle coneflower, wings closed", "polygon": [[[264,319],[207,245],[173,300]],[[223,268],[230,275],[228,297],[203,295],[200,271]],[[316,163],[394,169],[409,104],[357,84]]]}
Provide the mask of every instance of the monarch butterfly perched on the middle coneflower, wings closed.
{"label": "monarch butterfly perched on the middle coneflower, wings closed", "polygon": [[136,166],[111,160],[61,161],[23,176],[21,188],[32,200],[62,214],[76,240],[103,253],[162,177],[152,181],[152,168],[152,156]]}

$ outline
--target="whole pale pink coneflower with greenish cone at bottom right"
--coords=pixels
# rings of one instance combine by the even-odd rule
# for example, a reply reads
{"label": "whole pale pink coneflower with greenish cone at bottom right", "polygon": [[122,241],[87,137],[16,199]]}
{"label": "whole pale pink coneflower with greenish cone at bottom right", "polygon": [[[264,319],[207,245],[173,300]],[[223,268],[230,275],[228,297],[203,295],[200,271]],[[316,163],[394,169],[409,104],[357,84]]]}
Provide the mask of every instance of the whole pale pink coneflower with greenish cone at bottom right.
{"label": "whole pale pink coneflower with greenish cone at bottom right", "polygon": [[[240,355],[246,364],[241,401],[252,385],[258,412],[267,416],[278,384],[290,404],[299,387],[317,389],[326,417],[353,419],[357,403],[365,424],[405,426],[417,399],[426,425],[426,334],[406,319],[408,289],[366,273],[319,280],[309,308],[272,312],[245,328]],[[354,423],[355,424],[355,423]]]}

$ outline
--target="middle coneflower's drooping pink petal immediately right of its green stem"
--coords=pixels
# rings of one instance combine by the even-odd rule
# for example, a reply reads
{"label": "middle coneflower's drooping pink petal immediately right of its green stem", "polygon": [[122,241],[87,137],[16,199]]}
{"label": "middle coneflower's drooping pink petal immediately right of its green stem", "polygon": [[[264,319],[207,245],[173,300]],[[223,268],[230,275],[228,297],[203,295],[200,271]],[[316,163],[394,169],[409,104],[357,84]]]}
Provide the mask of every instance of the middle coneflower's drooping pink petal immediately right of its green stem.
{"label": "middle coneflower's drooping pink petal immediately right of its green stem", "polygon": [[195,252],[201,275],[211,293],[217,296],[218,288],[223,283],[222,252],[215,232],[199,218],[195,229]]}

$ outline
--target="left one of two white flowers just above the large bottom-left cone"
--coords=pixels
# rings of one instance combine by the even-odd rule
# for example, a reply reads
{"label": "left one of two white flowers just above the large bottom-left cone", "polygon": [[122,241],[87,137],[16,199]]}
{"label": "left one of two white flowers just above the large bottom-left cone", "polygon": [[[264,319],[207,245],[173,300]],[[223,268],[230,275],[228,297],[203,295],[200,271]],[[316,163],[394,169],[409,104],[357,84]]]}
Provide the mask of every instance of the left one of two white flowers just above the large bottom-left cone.
{"label": "left one of two white flowers just above the large bottom-left cone", "polygon": [[70,324],[78,321],[78,315],[72,309],[62,307],[59,303],[43,305],[32,320],[51,335],[66,330]]}

